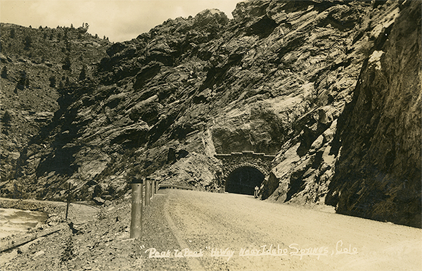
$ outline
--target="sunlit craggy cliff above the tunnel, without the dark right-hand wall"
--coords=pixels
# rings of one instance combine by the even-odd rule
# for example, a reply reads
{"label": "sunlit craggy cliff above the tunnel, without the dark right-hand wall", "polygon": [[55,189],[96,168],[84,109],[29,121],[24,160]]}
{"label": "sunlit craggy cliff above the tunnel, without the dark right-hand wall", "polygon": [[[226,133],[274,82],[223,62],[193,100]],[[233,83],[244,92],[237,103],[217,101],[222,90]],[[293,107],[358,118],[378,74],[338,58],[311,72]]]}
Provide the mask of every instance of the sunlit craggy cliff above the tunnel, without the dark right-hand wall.
{"label": "sunlit craggy cliff above the tunnel, without the dark right-hand wall", "polygon": [[20,153],[17,177],[38,198],[63,198],[68,180],[79,198],[116,197],[134,175],[213,190],[224,184],[215,153],[255,151],[276,154],[262,199],[324,203],[340,191],[338,181],[329,187],[344,164],[339,117],[350,117],[362,65],[378,63],[369,56],[408,9],[244,1],[233,20],[217,10],[167,20],[113,44],[94,78],[65,87],[51,125]]}

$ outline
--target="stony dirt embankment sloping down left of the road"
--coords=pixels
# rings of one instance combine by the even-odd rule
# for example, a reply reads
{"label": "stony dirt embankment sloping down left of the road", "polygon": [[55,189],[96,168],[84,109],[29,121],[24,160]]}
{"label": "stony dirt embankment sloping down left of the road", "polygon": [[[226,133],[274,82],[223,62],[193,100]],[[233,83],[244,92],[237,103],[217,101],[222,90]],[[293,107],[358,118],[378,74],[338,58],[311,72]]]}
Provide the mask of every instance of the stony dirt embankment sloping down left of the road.
{"label": "stony dirt embankment sloping down left of the road", "polygon": [[[143,256],[146,247],[178,248],[162,214],[165,198],[156,195],[151,206],[143,208],[141,240],[129,239],[130,196],[99,209],[72,203],[69,208],[72,227],[0,253],[0,270],[189,270],[186,260],[146,262]],[[47,209],[49,204],[44,204],[44,208],[39,202],[31,206],[65,212],[65,203]],[[18,207],[12,204],[7,207],[12,206]]]}

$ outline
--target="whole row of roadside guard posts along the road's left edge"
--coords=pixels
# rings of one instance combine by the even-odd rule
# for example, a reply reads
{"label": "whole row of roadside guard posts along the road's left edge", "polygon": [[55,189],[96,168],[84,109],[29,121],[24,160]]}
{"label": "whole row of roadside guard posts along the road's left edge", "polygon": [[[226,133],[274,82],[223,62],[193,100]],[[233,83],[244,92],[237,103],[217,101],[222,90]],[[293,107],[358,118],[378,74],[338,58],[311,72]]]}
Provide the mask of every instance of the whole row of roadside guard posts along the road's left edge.
{"label": "whole row of roadside guard posts along the road's left edge", "polygon": [[[143,187],[145,186],[145,194]],[[149,206],[154,194],[158,192],[158,181],[146,177],[146,179],[134,179],[132,181],[132,220],[130,223],[130,238],[140,239],[142,235],[142,206]],[[143,194],[145,200],[143,201]]]}

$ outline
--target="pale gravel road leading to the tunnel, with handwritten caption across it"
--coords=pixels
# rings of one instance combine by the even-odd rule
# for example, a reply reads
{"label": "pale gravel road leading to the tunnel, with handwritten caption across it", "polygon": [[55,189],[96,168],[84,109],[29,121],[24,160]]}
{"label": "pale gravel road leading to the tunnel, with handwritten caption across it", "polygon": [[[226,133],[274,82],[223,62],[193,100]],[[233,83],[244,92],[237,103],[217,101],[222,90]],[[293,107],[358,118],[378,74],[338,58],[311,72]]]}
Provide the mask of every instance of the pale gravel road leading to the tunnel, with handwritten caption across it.
{"label": "pale gravel road leading to the tunnel, with handwritten caption across it", "polygon": [[422,270],[421,229],[238,194],[164,193],[165,218],[187,249],[149,248],[146,261],[183,257],[192,270]]}

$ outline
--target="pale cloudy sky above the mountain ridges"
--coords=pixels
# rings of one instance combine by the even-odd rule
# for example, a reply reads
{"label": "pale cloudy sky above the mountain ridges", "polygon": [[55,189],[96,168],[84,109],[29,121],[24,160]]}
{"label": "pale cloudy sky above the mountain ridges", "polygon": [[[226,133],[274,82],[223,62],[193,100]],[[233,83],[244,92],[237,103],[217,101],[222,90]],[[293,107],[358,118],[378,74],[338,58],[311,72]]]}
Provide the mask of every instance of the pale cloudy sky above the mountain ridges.
{"label": "pale cloudy sky above the mountain ridges", "polygon": [[195,16],[217,8],[231,11],[242,0],[0,0],[0,22],[25,27],[74,27],[89,24],[88,32],[124,42],[148,32],[165,20]]}

